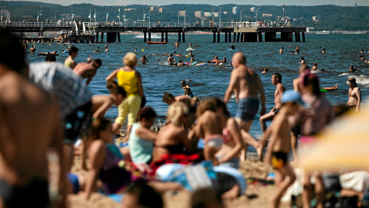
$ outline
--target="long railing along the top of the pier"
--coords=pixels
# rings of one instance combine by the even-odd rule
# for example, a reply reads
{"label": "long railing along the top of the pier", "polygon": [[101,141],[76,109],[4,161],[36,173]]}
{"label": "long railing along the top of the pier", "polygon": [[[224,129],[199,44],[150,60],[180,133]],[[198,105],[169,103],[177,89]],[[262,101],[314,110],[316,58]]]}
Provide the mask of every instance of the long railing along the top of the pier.
{"label": "long railing along the top of the pier", "polygon": [[[76,23],[70,23],[70,22],[11,22],[11,23],[5,23],[2,22],[2,27],[75,27]],[[215,27],[215,28],[234,28],[234,27],[290,27],[289,23],[277,23],[277,22],[250,22],[250,23],[244,23],[244,22],[234,22],[234,23],[196,23],[196,22],[189,22],[189,23],[149,23],[149,22],[142,22],[142,23],[132,23],[132,22],[84,22],[80,24],[80,27],[82,25],[87,25],[88,27]]]}

